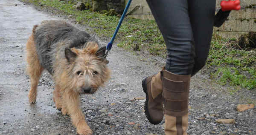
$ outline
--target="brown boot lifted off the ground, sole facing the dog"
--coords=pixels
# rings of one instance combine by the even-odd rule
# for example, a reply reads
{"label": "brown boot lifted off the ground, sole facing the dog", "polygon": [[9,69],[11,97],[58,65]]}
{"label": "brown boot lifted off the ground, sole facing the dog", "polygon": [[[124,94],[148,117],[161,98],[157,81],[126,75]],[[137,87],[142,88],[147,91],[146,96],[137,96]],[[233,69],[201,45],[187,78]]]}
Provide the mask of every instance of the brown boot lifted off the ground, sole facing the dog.
{"label": "brown boot lifted off the ground, sole facing the dog", "polygon": [[145,115],[151,124],[159,124],[163,120],[161,72],[143,79],[142,87],[146,93]]}

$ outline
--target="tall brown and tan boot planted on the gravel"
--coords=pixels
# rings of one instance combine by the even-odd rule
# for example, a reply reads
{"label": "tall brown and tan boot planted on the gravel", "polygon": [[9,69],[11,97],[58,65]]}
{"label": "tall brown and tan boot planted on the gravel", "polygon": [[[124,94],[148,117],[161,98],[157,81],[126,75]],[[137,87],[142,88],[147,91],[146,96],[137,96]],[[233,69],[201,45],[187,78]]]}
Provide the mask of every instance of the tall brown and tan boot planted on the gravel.
{"label": "tall brown and tan boot planted on the gravel", "polygon": [[166,135],[187,135],[190,79],[191,75],[176,75],[163,70]]}

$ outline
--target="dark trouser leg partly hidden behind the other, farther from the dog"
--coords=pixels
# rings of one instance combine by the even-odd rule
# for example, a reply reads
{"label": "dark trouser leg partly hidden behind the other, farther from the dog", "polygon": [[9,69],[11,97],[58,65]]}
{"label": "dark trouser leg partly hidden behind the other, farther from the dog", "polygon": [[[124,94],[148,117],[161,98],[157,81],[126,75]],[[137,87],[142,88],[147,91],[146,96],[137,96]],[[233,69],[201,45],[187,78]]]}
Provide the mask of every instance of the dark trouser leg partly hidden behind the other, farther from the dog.
{"label": "dark trouser leg partly hidden behind the other, farther from the dog", "polygon": [[188,0],[189,18],[195,40],[195,64],[192,76],[201,70],[209,54],[216,0]]}

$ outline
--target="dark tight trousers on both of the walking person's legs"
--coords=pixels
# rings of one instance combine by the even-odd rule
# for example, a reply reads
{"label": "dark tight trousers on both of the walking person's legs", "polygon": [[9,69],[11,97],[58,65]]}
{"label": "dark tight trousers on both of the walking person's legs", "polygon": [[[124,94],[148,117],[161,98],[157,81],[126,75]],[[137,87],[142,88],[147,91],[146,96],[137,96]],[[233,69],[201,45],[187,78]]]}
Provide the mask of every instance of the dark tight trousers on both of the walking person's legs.
{"label": "dark tight trousers on both of the walking person's legs", "polygon": [[147,0],[168,51],[165,69],[195,75],[206,63],[216,0]]}

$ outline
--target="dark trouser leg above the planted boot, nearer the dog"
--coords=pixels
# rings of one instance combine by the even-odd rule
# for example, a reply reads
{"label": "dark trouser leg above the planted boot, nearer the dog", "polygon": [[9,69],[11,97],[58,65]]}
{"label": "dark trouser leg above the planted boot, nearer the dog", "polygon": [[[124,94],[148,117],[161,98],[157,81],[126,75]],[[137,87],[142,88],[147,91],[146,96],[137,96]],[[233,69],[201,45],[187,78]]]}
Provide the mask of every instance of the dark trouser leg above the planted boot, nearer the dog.
{"label": "dark trouser leg above the planted boot, nearer the dog", "polygon": [[165,69],[177,75],[190,75],[195,48],[187,0],[147,2],[166,43]]}

